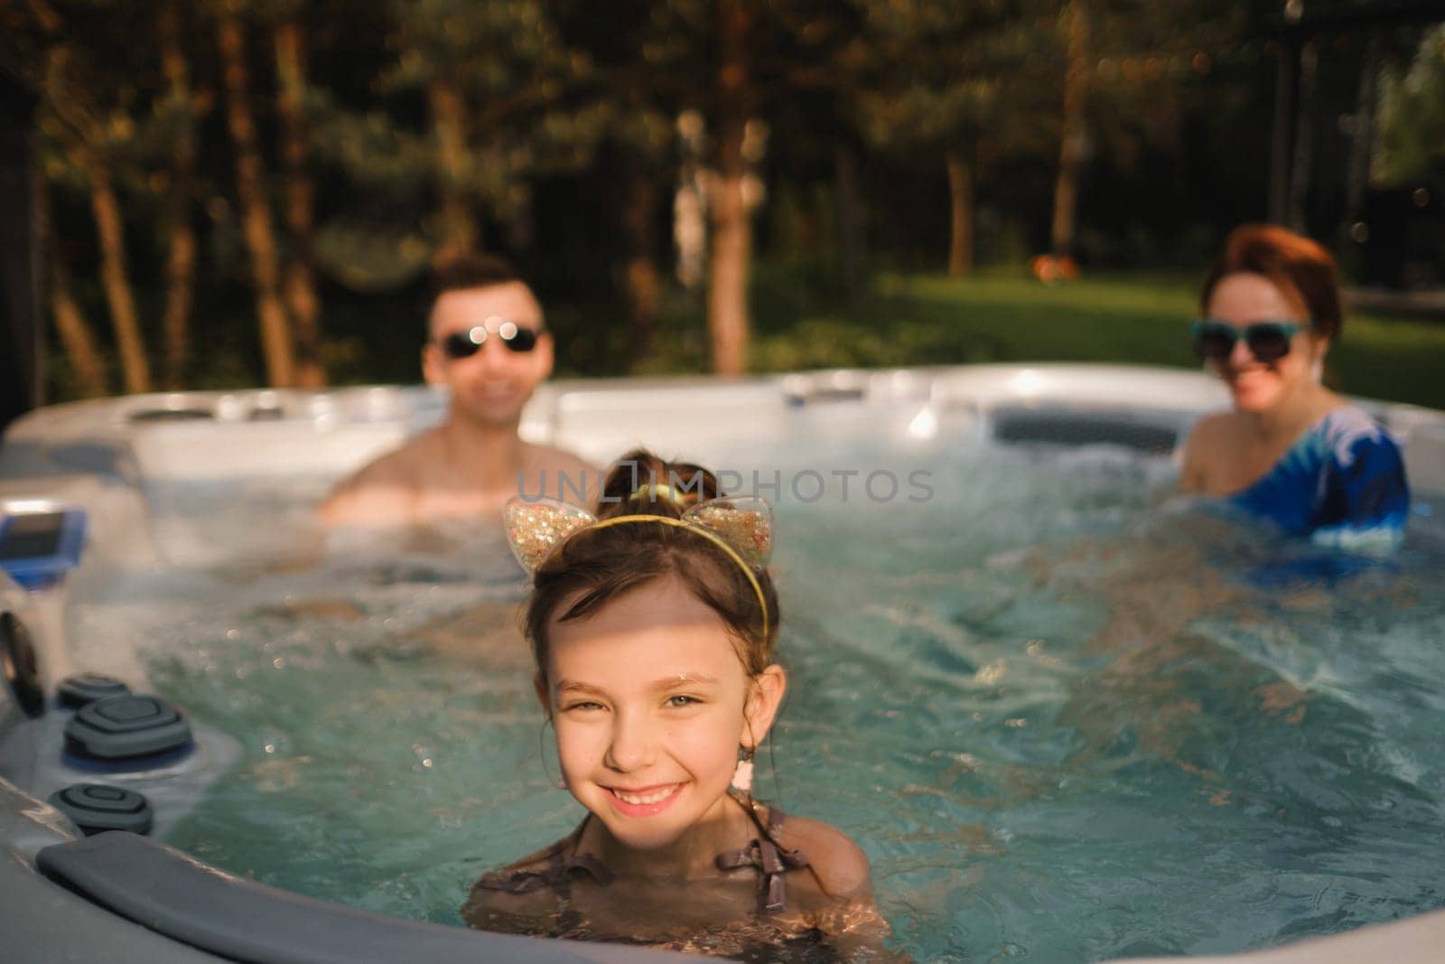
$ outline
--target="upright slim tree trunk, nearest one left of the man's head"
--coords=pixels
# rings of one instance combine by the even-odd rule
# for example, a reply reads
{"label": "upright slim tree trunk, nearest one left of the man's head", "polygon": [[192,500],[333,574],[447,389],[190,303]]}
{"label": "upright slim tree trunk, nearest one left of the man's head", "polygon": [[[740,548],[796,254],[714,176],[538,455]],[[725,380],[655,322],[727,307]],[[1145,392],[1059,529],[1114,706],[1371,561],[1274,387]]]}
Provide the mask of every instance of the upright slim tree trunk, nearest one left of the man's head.
{"label": "upright slim tree trunk, nearest one left of the man's head", "polygon": [[296,384],[319,389],[327,384],[327,369],[321,361],[321,299],[316,296],[311,260],[315,188],[306,171],[306,52],[301,25],[296,22],[276,27],[276,75],[280,79],[276,108],[280,114],[280,153],[286,172],[286,228],[292,238],[283,291],[286,309],[296,325]]}

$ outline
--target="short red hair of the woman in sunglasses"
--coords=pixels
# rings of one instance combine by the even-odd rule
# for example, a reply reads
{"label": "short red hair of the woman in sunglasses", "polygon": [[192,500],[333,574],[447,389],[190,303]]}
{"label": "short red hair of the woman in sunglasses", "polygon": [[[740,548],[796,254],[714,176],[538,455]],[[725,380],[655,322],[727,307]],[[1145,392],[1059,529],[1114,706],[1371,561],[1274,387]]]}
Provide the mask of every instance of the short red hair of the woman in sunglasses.
{"label": "short red hair of the woman in sunglasses", "polygon": [[1224,253],[1204,282],[1201,311],[1208,309],[1215,286],[1238,273],[1267,277],[1287,301],[1305,309],[1316,332],[1340,340],[1344,309],[1335,259],[1316,241],[1274,224],[1241,224],[1224,241]]}

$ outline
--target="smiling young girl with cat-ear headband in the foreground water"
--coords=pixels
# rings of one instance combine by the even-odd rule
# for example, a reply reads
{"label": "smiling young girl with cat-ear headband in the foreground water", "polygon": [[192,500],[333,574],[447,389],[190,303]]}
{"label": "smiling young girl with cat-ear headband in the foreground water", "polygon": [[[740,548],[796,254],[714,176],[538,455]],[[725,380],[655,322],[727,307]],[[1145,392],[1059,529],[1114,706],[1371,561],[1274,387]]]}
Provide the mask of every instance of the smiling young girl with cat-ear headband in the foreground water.
{"label": "smiling young girl with cat-ear headband in the foreground water", "polygon": [[711,473],[633,452],[604,483],[601,519],[507,506],[535,577],[538,700],[588,812],[478,880],[471,926],[744,960],[847,957],[886,934],[863,851],[753,798],[753,754],[788,682],[763,568],[772,513],[718,496]]}

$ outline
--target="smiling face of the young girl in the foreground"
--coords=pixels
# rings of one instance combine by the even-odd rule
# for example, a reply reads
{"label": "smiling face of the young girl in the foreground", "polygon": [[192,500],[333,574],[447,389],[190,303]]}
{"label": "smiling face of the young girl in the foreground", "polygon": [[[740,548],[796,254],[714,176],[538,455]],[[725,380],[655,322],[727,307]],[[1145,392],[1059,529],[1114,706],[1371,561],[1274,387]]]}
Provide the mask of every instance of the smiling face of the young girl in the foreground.
{"label": "smiling face of the young girl in the foreground", "polygon": [[722,620],[673,580],[553,620],[549,634],[538,697],[572,796],[633,850],[721,819],[738,746],[772,726],[783,671],[750,679]]}

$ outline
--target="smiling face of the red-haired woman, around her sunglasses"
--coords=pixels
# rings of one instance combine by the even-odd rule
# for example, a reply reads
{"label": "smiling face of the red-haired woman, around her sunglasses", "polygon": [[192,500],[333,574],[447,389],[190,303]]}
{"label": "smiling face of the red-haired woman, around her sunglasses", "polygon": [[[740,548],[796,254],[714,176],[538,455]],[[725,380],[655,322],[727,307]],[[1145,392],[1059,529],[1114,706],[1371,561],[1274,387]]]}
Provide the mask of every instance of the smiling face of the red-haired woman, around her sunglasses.
{"label": "smiling face of the red-haired woman, around her sunglasses", "polygon": [[1228,358],[1209,363],[1209,369],[1230,386],[1234,408],[1241,412],[1267,412],[1293,389],[1318,382],[1328,340],[1311,331],[1305,312],[1263,275],[1225,275],[1214,286],[1205,314],[1234,325],[1241,335],[1247,325],[1259,321],[1292,321],[1302,325],[1283,358],[1260,361],[1241,337],[1234,343]]}

